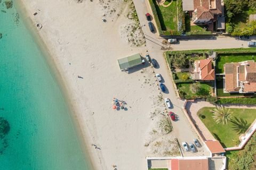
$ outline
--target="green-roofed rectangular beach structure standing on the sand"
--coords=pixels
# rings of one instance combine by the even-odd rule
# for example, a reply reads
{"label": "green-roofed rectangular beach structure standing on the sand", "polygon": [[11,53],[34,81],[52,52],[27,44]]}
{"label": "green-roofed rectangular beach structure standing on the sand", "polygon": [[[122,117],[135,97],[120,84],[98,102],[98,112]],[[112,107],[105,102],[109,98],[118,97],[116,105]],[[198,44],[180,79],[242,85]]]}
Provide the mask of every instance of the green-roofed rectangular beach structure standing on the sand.
{"label": "green-roofed rectangular beach structure standing on the sand", "polygon": [[134,54],[128,57],[118,59],[118,64],[121,70],[130,69],[142,63],[140,54]]}

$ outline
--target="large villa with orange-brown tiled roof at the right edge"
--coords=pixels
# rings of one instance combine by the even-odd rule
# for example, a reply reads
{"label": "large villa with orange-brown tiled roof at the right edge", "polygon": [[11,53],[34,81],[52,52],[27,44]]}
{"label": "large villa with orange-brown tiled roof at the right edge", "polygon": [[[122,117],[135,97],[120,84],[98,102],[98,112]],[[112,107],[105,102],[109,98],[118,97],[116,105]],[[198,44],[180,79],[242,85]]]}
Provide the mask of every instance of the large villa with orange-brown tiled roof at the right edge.
{"label": "large villa with orange-brown tiled roof at the right edge", "polygon": [[227,92],[256,92],[256,63],[254,61],[226,63],[224,71],[224,84]]}

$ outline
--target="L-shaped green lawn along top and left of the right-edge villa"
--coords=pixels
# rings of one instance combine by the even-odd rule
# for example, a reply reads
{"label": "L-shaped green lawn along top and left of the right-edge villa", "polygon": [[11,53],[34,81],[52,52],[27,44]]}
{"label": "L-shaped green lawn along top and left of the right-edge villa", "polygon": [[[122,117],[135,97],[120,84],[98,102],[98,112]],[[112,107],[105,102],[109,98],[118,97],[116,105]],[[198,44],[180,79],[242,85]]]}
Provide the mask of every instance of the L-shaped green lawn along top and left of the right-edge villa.
{"label": "L-shaped green lawn along top and left of the right-edge villa", "polygon": [[[246,46],[246,44],[244,44]],[[225,63],[237,63],[242,61],[256,61],[256,53],[251,54],[219,54],[217,58],[217,67],[215,73],[223,73],[223,65]]]}

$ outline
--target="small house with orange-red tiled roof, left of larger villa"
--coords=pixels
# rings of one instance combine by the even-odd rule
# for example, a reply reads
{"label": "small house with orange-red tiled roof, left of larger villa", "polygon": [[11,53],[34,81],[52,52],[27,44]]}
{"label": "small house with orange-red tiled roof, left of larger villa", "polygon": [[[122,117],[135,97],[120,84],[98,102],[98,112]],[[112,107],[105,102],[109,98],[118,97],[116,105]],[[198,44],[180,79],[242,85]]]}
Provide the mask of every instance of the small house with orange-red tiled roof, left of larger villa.
{"label": "small house with orange-red tiled roof, left of larger villa", "polygon": [[193,79],[202,81],[212,81],[215,79],[215,71],[211,59],[195,61]]}

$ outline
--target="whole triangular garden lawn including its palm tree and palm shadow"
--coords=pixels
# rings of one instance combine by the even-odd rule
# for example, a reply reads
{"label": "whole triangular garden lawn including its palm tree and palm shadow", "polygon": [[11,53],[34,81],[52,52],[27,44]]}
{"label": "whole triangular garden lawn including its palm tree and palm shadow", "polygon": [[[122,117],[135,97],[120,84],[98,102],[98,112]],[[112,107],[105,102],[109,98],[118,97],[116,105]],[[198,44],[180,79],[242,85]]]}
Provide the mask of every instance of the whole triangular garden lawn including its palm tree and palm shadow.
{"label": "whole triangular garden lawn including its palm tree and palm shadow", "polygon": [[255,112],[255,109],[204,107],[197,112],[197,115],[213,137],[226,148],[239,144],[239,135],[244,133],[255,120]]}

